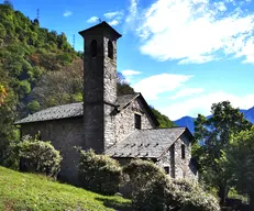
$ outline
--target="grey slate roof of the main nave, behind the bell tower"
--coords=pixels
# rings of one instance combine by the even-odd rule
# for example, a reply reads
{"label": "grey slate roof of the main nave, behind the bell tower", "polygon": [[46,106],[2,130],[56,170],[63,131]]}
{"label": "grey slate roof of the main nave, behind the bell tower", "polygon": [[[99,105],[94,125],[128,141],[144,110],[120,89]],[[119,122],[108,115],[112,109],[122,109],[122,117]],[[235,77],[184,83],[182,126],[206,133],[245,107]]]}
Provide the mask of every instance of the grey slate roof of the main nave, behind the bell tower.
{"label": "grey slate roof of the main nave, behind the bell tower", "polygon": [[[121,111],[122,109],[128,107],[129,103],[133,101],[134,99],[136,99],[137,97],[141,98],[152,120],[157,125],[156,118],[154,116],[153,112],[148,108],[147,103],[145,102],[141,93],[119,96],[115,102],[118,110]],[[30,123],[30,122],[42,122],[42,121],[48,121],[48,120],[59,120],[59,119],[66,119],[66,118],[81,116],[84,113],[82,110],[84,110],[82,102],[52,107],[52,108],[47,108],[45,110],[38,111],[32,115],[29,115],[20,121],[16,121],[14,124],[24,124],[24,123]]]}

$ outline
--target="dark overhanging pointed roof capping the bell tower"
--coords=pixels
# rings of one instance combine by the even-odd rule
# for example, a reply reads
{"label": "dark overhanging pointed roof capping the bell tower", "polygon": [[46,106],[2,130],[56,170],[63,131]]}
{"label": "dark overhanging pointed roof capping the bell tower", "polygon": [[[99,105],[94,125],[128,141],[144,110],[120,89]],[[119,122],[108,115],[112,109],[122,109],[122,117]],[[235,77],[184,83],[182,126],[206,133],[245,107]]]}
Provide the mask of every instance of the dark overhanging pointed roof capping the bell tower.
{"label": "dark overhanging pointed roof capping the bell tower", "polygon": [[111,27],[106,21],[102,21],[101,23],[93,25],[87,30],[80,31],[79,34],[84,37],[86,35],[97,35],[97,34],[111,34],[114,40],[118,40],[122,35],[118,33],[113,27]]}

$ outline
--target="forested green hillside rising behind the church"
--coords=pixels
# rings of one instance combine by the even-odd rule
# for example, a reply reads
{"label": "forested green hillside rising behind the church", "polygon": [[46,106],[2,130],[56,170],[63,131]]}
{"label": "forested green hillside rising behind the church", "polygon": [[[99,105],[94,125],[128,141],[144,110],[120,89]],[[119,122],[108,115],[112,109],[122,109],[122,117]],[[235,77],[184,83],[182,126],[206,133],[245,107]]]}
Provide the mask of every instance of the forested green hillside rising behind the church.
{"label": "forested green hillside rising behind the church", "polygon": [[[40,27],[38,20],[15,11],[9,1],[0,4],[0,151],[19,138],[15,120],[48,107],[82,101],[81,56],[64,33]],[[118,95],[133,91],[119,78]],[[172,125],[154,112],[161,126]],[[8,156],[0,152],[0,163]]]}

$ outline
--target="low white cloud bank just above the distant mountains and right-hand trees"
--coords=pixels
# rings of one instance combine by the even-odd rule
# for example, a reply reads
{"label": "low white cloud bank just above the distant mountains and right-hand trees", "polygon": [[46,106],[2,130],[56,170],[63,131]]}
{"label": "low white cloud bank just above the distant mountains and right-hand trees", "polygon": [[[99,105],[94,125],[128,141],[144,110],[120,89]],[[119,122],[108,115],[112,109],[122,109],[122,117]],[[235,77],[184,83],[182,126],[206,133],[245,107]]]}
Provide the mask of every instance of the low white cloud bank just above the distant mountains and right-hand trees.
{"label": "low white cloud bank just above the distant mountains and right-hand trees", "polygon": [[158,108],[161,112],[166,114],[170,120],[177,120],[185,115],[196,118],[199,113],[210,115],[212,103],[229,100],[233,107],[240,109],[250,109],[253,107],[254,95],[243,97],[234,96],[223,91],[212,92],[209,95],[198,96],[177,103],[172,103],[165,108]]}

